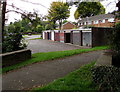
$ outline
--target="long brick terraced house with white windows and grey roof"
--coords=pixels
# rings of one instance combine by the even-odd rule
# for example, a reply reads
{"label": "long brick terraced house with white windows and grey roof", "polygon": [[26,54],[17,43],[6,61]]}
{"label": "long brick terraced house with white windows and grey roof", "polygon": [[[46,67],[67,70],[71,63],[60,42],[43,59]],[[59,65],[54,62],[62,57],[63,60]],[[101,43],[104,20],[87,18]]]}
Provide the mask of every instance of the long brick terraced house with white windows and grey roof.
{"label": "long brick terraced house with white windows and grey roof", "polygon": [[112,27],[117,22],[113,14],[100,14],[96,16],[86,17],[78,21],[79,27]]}

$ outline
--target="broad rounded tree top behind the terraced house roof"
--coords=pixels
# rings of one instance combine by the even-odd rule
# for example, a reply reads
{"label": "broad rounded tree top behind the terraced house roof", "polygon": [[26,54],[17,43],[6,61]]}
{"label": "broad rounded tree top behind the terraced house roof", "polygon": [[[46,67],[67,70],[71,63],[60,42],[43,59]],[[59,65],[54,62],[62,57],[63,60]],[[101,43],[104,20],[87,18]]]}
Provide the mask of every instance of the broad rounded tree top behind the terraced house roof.
{"label": "broad rounded tree top behind the terraced house roof", "polygon": [[105,8],[100,2],[81,2],[75,11],[75,19],[105,14]]}

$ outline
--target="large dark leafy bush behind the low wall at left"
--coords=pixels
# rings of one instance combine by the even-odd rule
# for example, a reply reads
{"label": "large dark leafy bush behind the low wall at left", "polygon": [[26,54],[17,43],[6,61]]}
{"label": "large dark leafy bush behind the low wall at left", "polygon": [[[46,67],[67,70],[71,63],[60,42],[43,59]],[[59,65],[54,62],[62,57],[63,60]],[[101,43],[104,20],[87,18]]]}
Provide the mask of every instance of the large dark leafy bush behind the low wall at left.
{"label": "large dark leafy bush behind the low wall at left", "polygon": [[10,24],[4,31],[2,53],[21,50],[26,47],[19,25]]}

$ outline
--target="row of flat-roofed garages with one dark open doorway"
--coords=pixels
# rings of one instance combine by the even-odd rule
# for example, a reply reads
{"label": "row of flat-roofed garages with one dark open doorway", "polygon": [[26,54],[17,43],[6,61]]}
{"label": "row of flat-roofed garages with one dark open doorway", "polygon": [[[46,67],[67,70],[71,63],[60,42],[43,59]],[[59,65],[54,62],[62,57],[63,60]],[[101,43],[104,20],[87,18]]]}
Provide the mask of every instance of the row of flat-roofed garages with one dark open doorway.
{"label": "row of flat-roofed garages with one dark open doorway", "polygon": [[46,30],[43,39],[71,43],[79,46],[106,45],[111,28],[75,29],[75,30]]}

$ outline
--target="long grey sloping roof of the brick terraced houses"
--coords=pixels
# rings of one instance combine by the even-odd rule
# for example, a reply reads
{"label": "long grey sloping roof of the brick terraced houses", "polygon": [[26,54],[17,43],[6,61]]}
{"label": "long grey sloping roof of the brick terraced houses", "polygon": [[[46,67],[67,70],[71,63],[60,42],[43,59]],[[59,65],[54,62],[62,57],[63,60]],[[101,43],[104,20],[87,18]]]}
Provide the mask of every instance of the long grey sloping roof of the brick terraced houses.
{"label": "long grey sloping roof of the brick terraced houses", "polygon": [[83,18],[83,19],[79,20],[78,22],[103,20],[103,19],[109,19],[109,18],[114,18],[114,17],[115,17],[115,15],[113,15],[113,14],[100,14],[100,15],[96,15],[96,16]]}

